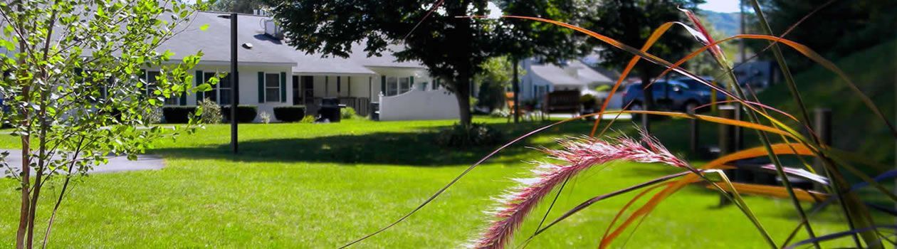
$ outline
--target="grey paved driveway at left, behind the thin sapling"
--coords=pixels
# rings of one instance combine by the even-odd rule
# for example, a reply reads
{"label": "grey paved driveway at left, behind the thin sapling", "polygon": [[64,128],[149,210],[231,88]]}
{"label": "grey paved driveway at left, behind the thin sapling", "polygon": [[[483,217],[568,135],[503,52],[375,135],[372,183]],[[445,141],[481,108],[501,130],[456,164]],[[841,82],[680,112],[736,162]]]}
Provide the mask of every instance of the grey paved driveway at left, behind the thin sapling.
{"label": "grey paved driveway at left, behind the thin sapling", "polygon": [[[18,171],[22,167],[22,150],[0,150],[9,151],[6,162],[9,166]],[[111,173],[121,171],[135,170],[156,170],[165,167],[165,163],[161,157],[155,155],[140,155],[136,160],[128,160],[126,156],[109,157],[109,163],[93,167],[90,173]],[[5,176],[5,168],[0,170],[0,175]]]}

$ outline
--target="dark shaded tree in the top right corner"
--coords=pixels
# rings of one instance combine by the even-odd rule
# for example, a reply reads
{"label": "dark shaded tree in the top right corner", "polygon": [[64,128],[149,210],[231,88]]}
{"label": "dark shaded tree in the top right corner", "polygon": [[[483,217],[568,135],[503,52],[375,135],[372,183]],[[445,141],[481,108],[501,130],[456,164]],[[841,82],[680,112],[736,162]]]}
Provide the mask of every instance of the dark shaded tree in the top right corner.
{"label": "dark shaded tree in the top right corner", "polygon": [[[769,21],[773,35],[803,19],[807,13],[829,2],[828,0],[760,0],[763,13]],[[747,9],[752,9],[750,1]],[[788,39],[797,41],[826,57],[847,56],[858,50],[874,47],[897,37],[897,1],[857,0],[835,1],[820,9],[797,29],[788,33]],[[755,16],[749,25],[759,27]],[[758,28],[759,29],[759,28]],[[754,51],[769,46],[768,42],[748,43]],[[762,54],[771,58],[771,54]],[[806,57],[786,54],[788,65],[805,69],[812,62]]]}

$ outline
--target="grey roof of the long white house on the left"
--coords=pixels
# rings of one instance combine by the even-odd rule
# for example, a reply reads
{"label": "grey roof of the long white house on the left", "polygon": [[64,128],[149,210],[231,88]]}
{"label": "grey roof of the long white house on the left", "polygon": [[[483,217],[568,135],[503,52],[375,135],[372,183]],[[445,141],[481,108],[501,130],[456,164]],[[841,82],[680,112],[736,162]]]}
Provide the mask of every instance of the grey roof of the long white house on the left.
{"label": "grey roof of the long white house on the left", "polygon": [[[184,25],[183,31],[163,43],[161,50],[169,49],[175,53],[172,59],[195,54],[202,50],[205,63],[230,63],[231,61],[231,20],[223,18],[228,13],[198,12],[194,20]],[[264,21],[270,17],[239,14],[237,42],[240,45],[249,43],[252,48],[238,47],[239,63],[248,64],[292,64],[293,73],[341,73],[341,74],[374,74],[368,66],[373,67],[413,67],[423,68],[417,62],[396,62],[392,51],[382,56],[368,57],[361,43],[353,46],[351,56],[324,57],[320,54],[307,54],[287,45],[283,40],[274,39],[265,34]],[[208,24],[206,30],[200,30]]]}

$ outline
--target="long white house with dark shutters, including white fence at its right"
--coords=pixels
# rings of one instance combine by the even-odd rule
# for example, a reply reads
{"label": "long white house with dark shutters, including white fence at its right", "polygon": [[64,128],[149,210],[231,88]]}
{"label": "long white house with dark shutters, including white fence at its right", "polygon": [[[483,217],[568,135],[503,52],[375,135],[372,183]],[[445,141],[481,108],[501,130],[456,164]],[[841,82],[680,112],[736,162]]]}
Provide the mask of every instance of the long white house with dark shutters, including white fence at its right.
{"label": "long white house with dark shutters, including white fence at its right", "polygon": [[[239,14],[238,76],[239,105],[257,106],[259,112],[272,113],[274,107],[304,105],[314,114],[323,98],[337,98],[341,104],[353,107],[362,116],[371,112],[371,102],[380,98],[413,105],[414,114],[399,108],[381,108],[381,116],[401,116],[398,119],[457,118],[454,97],[438,86],[426,68],[416,62],[396,62],[391,51],[383,56],[368,57],[362,45],[353,46],[348,58],[308,55],[286,44],[270,17]],[[208,24],[207,30],[200,30]],[[205,54],[196,66],[196,83],[205,82],[217,72],[230,72],[231,21],[225,13],[199,12],[186,30],[162,44],[161,50],[175,53],[172,60],[195,54]],[[158,69],[147,68],[149,82]],[[167,105],[192,106],[200,99],[211,99],[230,105],[230,80],[222,79],[213,90],[196,95],[169,99]],[[404,99],[405,93],[433,91],[431,95],[451,98]],[[449,101],[450,100],[450,101]],[[410,102],[409,102],[410,101]],[[395,102],[395,101],[393,101]],[[454,114],[442,110],[455,106]],[[433,108],[428,111],[428,108]]]}

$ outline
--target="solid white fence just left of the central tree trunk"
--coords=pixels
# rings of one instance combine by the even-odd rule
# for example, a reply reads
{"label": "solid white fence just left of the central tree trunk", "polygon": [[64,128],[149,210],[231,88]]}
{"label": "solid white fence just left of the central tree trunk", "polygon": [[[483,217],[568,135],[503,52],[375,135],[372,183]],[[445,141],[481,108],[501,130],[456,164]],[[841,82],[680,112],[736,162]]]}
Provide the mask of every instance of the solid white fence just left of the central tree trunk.
{"label": "solid white fence just left of the central tree trunk", "polygon": [[380,96],[381,121],[457,119],[457,99],[447,90],[414,88],[396,96]]}

